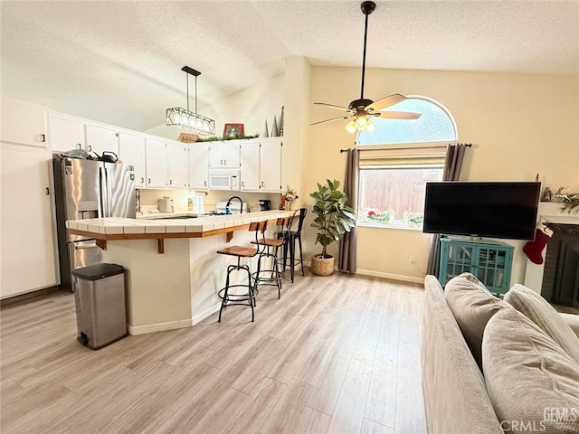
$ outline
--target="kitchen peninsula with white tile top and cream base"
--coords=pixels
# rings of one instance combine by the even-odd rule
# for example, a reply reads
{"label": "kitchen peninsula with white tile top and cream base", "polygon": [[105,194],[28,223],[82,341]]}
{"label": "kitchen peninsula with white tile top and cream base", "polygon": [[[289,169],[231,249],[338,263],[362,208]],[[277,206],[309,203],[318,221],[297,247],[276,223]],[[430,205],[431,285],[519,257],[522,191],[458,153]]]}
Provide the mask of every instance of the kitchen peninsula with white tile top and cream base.
{"label": "kitchen peninsula with white tile top and cream base", "polygon": [[[232,259],[216,250],[230,242],[249,245],[251,222],[275,221],[293,212],[266,211],[183,219],[101,218],[66,222],[71,234],[97,240],[105,262],[125,267],[128,333],[187,327],[219,310]],[[159,215],[162,217],[163,215]],[[165,217],[169,217],[165,215]],[[232,241],[233,239],[233,241]],[[252,260],[252,269],[254,261]],[[259,311],[256,312],[259,316]]]}

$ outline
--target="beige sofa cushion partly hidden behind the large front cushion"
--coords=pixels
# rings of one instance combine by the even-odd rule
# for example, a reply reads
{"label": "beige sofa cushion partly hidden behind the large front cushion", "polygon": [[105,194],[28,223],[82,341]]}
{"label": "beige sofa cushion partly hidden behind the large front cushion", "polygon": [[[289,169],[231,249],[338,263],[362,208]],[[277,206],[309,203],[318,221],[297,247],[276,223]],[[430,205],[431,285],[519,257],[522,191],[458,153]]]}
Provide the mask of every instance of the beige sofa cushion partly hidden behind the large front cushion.
{"label": "beige sofa cushion partly hidden behind the large front cushion", "polygon": [[505,300],[551,336],[565,353],[579,363],[579,338],[545,298],[532,289],[515,284],[505,294]]}

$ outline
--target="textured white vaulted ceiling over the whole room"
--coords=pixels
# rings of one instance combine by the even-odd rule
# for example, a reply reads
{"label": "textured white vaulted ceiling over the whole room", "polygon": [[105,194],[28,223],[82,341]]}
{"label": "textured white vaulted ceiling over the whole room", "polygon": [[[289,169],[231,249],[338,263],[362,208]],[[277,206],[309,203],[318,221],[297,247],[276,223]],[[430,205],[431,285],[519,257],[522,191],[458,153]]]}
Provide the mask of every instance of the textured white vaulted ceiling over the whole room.
{"label": "textured white vaulted ceiling over the whole room", "polygon": [[[367,67],[579,74],[578,1],[376,1]],[[283,59],[361,67],[360,2],[2,1],[0,90],[123,127],[283,72]],[[191,105],[194,82],[190,77]]]}

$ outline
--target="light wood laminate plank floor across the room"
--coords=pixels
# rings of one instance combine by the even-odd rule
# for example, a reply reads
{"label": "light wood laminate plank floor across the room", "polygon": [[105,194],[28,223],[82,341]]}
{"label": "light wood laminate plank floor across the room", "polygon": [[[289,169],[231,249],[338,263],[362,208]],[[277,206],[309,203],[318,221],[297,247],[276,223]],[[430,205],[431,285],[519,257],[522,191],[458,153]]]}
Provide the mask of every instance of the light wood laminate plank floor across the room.
{"label": "light wood laminate plank floor across the room", "polygon": [[422,287],[335,273],[261,289],[193,327],[76,341],[74,298],[1,311],[1,425],[11,433],[426,432]]}

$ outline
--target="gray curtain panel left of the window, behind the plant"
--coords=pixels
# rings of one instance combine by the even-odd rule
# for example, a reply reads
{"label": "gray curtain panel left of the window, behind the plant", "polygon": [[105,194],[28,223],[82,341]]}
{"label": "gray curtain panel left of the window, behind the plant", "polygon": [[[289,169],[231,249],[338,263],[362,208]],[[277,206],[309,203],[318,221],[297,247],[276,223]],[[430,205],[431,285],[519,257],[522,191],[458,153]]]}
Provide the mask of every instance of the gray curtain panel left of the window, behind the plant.
{"label": "gray curtain panel left of the window, behind the plant", "polygon": [[[344,181],[344,193],[347,194],[347,204],[354,210],[358,209],[358,178],[360,166],[360,151],[357,149],[347,150],[346,178]],[[356,245],[357,227],[346,232],[340,241],[340,258],[338,269],[345,273],[356,273]]]}

